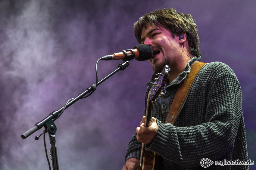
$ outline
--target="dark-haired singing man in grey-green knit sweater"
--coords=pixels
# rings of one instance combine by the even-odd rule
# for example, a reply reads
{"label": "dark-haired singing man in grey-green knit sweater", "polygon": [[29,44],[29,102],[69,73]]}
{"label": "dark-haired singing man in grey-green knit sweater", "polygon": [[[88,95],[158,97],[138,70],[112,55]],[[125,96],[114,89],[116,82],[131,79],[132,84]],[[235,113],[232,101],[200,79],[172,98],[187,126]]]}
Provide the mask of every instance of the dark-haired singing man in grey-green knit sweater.
{"label": "dark-haired singing man in grey-green knit sweater", "polygon": [[[142,143],[147,151],[159,154],[158,169],[204,169],[202,158],[248,160],[245,126],[241,109],[241,88],[234,72],[220,62],[206,64],[192,85],[174,124],[165,123],[181,82],[190,65],[201,61],[199,37],[194,18],[175,9],[147,13],[134,23],[139,43],[153,49],[149,59],[156,73],[170,67],[167,93],[154,102],[151,126],[142,117],[129,142],[123,170],[139,169]],[[152,84],[148,83],[148,91]],[[147,102],[146,102],[147,103]],[[208,169],[248,169],[248,166],[211,165]]]}

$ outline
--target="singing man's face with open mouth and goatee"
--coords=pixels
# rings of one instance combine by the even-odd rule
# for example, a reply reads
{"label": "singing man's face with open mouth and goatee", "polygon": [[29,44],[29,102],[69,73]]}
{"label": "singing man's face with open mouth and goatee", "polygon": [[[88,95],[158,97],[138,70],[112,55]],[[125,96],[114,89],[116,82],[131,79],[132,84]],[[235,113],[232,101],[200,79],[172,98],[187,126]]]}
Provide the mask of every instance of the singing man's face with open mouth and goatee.
{"label": "singing man's face with open mouth and goatee", "polygon": [[161,27],[147,25],[142,29],[141,43],[151,46],[153,55],[149,59],[153,69],[160,73],[165,65],[171,67],[180,60],[180,44],[178,36]]}

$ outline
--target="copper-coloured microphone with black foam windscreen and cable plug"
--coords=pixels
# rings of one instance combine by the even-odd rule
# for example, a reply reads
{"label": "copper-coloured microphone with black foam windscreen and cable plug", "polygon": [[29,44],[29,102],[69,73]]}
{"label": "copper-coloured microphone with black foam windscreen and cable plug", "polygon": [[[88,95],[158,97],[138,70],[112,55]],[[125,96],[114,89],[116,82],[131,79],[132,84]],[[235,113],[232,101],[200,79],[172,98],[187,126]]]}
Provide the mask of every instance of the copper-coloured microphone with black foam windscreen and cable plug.
{"label": "copper-coloured microphone with black foam windscreen and cable plug", "polygon": [[145,61],[151,58],[153,55],[153,50],[149,45],[139,44],[133,49],[126,49],[122,52],[117,52],[111,55],[105,55],[101,57],[102,60],[119,60],[130,61],[135,58],[138,61]]}

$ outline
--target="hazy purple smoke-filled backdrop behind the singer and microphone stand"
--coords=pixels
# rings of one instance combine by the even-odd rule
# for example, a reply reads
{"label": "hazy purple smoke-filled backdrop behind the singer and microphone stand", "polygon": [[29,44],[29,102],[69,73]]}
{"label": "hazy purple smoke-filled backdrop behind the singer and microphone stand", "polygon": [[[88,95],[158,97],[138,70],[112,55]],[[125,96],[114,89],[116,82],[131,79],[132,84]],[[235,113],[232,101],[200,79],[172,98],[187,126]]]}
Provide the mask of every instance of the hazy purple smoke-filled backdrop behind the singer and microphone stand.
{"label": "hazy purple smoke-filled backdrop behind the singer and microphone stand", "polygon": [[[0,169],[47,170],[43,138],[34,140],[42,129],[25,140],[20,135],[95,84],[98,58],[137,45],[132,25],[140,16],[168,7],[194,16],[203,62],[220,61],[236,73],[248,158],[256,161],[255,6],[253,0],[1,0]],[[100,61],[99,80],[119,63]],[[55,121],[60,169],[123,167],[152,73],[148,61],[131,61],[65,110]],[[46,142],[49,149],[48,136]]]}

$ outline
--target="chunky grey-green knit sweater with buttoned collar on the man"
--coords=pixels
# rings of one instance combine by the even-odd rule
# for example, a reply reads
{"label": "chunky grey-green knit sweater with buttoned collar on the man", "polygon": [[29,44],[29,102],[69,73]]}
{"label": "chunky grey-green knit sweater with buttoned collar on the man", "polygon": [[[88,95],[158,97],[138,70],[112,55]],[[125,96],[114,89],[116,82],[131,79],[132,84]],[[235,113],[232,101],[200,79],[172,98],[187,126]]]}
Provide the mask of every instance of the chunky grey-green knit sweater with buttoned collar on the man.
{"label": "chunky grey-green knit sweater with buttoned collar on the man", "polygon": [[[146,149],[160,155],[161,170],[204,169],[200,165],[202,158],[213,162],[248,160],[241,88],[235,73],[226,64],[206,64],[174,125],[163,123],[180,82],[196,60],[200,61],[201,57],[192,58],[185,71],[167,86],[168,93],[162,96],[161,103],[153,104],[152,116],[157,118],[158,132]],[[148,85],[146,97],[151,88]],[[125,160],[139,159],[140,150],[141,143],[135,134],[129,142]],[[248,169],[248,166],[213,164],[208,169]]]}

